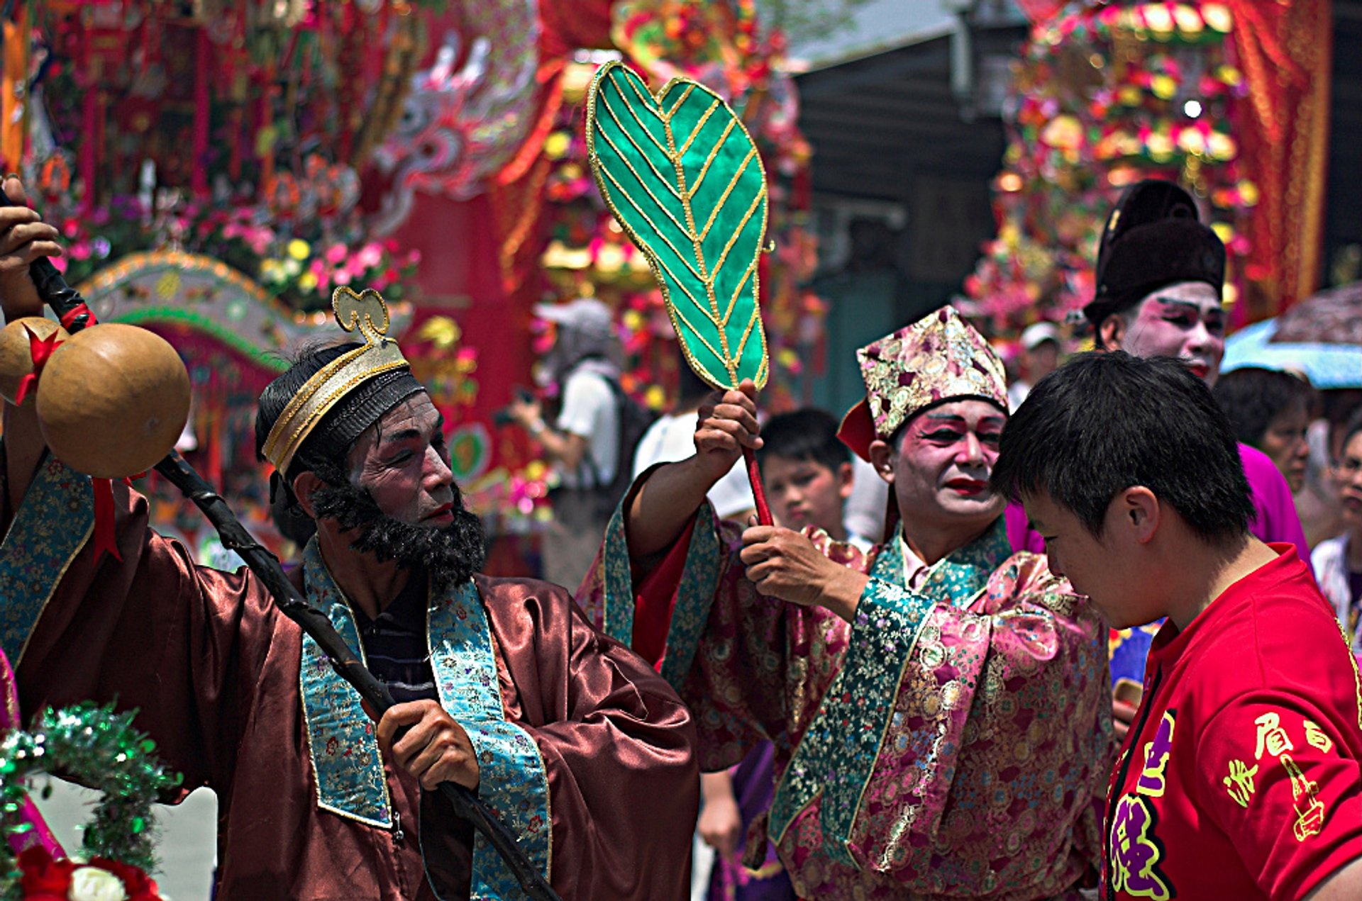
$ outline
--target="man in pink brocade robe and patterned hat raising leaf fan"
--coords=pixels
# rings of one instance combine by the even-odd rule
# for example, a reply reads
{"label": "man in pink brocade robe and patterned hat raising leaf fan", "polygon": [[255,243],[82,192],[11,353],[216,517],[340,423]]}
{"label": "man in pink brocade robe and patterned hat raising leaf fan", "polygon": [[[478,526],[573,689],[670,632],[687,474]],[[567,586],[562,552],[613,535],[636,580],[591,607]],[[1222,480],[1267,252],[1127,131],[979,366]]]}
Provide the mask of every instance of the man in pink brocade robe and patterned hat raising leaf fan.
{"label": "man in pink brocade robe and patterned hat raising leaf fan", "polygon": [[706,490],[760,445],[745,382],[701,411],[691,460],[631,489],[587,600],[661,660],[703,770],[775,743],[749,867],[770,837],[802,898],[1076,897],[1114,750],[1105,629],[1008,546],[1002,363],[953,309],[858,355],[840,434],[892,487],[885,544],[715,519]]}

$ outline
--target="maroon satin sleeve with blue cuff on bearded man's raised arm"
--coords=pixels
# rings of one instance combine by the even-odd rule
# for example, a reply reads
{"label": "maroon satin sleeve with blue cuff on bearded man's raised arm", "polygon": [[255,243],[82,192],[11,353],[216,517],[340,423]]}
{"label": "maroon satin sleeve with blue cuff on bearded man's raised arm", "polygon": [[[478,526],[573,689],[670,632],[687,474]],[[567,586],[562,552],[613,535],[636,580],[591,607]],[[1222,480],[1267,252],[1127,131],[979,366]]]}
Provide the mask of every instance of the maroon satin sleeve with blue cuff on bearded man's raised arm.
{"label": "maroon satin sleeve with blue cuff on bearded man's raised arm", "polygon": [[[23,715],[114,701],[138,710],[138,728],[184,774],[183,793],[222,788],[260,668],[241,649],[268,653],[268,640],[249,640],[279,614],[244,568],[197,568],[183,544],[151,531],[144,497],[123,485],[113,497],[121,559],[95,559],[82,532],[89,479],[49,459],[0,547],[4,577],[33,589],[11,593],[3,614],[7,644],[22,646]],[[50,528],[22,528],[26,513]]]}

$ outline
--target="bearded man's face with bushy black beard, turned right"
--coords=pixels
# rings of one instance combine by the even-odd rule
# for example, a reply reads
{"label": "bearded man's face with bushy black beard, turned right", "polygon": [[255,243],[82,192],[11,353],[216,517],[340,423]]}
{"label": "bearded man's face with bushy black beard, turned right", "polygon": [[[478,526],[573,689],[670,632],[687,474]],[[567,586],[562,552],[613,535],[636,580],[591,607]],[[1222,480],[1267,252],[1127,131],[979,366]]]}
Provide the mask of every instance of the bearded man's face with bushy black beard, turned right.
{"label": "bearded man's face with bushy black beard, turned right", "polygon": [[360,532],[353,550],[422,566],[437,587],[469,578],[485,554],[482,521],[463,506],[443,426],[430,397],[413,395],[355,441],[349,478],[312,495],[317,519]]}

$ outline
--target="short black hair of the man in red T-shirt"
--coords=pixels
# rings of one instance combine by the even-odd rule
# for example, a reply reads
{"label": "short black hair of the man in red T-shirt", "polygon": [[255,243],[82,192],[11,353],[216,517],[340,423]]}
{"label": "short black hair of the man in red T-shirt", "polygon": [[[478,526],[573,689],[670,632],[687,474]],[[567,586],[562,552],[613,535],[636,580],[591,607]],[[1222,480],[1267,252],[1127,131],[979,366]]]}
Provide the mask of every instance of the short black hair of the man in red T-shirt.
{"label": "short black hair of the man in red T-shirt", "polygon": [[1136,485],[1209,543],[1253,517],[1230,421],[1169,357],[1080,354],[1042,378],[1008,419],[989,482],[1009,498],[1049,494],[1095,538],[1111,498]]}

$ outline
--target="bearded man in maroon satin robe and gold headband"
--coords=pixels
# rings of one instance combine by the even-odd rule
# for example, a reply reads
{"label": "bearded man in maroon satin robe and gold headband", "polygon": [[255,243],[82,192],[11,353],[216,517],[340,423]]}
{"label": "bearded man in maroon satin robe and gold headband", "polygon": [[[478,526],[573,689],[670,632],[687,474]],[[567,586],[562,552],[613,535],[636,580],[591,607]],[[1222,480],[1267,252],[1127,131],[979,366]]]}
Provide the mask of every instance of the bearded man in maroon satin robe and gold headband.
{"label": "bearded man in maroon satin robe and gold headband", "polygon": [[[25,208],[0,210],[0,226],[4,313],[39,313],[26,264],[56,234]],[[686,709],[564,589],[477,573],[479,523],[381,299],[338,293],[336,309],[365,342],[305,353],[272,381],[257,449],[316,520],[290,578],[398,704],[375,728],[251,572],[195,566],[147,528],[135,491],[114,487],[121,559],[98,559],[90,479],[46,453],[33,404],[7,404],[0,645],[23,709],[140,710],[183,793],[218,795],[219,898],[523,897],[430,791],[447,780],[564,898],[685,897]]]}

